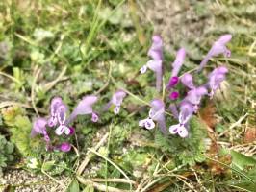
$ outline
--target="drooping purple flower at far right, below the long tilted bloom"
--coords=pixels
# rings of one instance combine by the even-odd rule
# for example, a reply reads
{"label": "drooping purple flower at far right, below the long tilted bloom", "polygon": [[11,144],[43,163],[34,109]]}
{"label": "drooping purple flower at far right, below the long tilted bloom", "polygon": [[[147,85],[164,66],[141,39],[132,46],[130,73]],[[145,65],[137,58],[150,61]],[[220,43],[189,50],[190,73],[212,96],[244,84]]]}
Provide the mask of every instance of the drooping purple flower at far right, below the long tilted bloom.
{"label": "drooping purple flower at far right, below the long tilted bloom", "polygon": [[215,91],[218,89],[219,84],[225,80],[227,72],[228,69],[225,66],[219,66],[208,75],[208,86],[211,89],[209,96],[211,99],[213,98]]}

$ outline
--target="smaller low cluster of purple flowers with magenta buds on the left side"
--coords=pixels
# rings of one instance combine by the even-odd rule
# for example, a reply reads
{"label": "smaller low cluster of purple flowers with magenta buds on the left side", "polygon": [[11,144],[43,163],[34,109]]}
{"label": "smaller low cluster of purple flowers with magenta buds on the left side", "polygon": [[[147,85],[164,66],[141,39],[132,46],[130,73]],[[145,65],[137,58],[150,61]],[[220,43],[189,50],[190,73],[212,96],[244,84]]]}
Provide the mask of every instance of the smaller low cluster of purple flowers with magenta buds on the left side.
{"label": "smaller low cluster of purple flowers with magenta buds on the left side", "polygon": [[96,96],[91,95],[84,97],[78,103],[77,107],[74,108],[73,112],[69,115],[69,117],[67,117],[67,107],[64,104],[62,98],[53,98],[50,105],[50,117],[39,117],[38,119],[36,119],[33,124],[31,136],[34,137],[38,134],[43,135],[47,151],[70,151],[71,145],[68,142],[53,145],[48,134],[48,130],[54,129],[55,134],[58,136],[61,136],[63,134],[65,134],[64,137],[71,136],[75,132],[75,129],[71,127],[71,123],[78,115],[82,114],[91,114],[91,121],[97,122],[98,115],[92,109],[92,106],[94,103],[96,103],[96,101]]}

